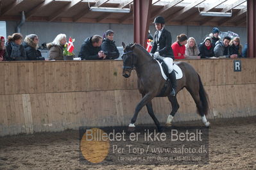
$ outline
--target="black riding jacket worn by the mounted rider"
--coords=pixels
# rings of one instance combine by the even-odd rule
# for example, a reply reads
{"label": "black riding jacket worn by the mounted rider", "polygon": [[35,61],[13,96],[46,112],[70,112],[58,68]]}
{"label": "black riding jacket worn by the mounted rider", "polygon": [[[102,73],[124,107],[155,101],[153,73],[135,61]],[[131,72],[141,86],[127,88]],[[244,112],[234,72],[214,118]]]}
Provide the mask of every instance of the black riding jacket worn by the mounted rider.
{"label": "black riding jacket worn by the mounted rider", "polygon": [[159,38],[159,50],[157,50],[157,31],[154,35],[154,43],[151,49],[151,53],[159,52],[160,56],[163,57],[173,57],[173,49],[171,49],[171,33],[167,31],[165,28],[162,31],[162,34]]}

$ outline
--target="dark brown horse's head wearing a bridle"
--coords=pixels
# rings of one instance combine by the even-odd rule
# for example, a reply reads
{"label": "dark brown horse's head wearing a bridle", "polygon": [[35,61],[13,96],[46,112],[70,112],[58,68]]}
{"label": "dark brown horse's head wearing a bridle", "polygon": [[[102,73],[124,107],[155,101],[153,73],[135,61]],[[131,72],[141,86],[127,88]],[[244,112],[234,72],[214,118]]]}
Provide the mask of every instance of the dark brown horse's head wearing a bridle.
{"label": "dark brown horse's head wearing a bridle", "polygon": [[125,46],[124,42],[122,42],[122,46],[124,48],[124,53],[122,55],[123,59],[123,76],[128,78],[131,75],[131,72],[134,68],[135,64],[135,56],[133,54],[133,48],[136,43],[131,43]]}

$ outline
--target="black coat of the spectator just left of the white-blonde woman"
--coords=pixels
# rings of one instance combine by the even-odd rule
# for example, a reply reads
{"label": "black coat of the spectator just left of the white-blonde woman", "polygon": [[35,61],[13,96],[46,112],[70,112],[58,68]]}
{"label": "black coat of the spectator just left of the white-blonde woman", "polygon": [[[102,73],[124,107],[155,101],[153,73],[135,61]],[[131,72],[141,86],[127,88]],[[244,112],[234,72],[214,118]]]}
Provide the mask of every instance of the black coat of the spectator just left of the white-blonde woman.
{"label": "black coat of the spectator just left of the white-blonde woman", "polygon": [[28,60],[30,61],[44,60],[40,50],[37,50],[37,45],[33,43],[33,41],[28,40],[28,42],[23,42],[23,45],[24,45]]}

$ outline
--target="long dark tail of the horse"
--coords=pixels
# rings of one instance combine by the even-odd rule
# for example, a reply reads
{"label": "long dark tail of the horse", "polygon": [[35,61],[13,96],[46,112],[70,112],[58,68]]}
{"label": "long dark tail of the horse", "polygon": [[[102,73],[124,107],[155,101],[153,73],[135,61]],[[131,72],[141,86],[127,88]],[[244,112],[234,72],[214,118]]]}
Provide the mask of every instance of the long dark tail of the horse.
{"label": "long dark tail of the horse", "polygon": [[209,112],[209,101],[208,101],[209,97],[205,92],[205,89],[203,88],[203,83],[201,82],[201,78],[199,74],[198,74],[198,80],[199,80],[199,96],[202,104],[200,113],[207,115]]}

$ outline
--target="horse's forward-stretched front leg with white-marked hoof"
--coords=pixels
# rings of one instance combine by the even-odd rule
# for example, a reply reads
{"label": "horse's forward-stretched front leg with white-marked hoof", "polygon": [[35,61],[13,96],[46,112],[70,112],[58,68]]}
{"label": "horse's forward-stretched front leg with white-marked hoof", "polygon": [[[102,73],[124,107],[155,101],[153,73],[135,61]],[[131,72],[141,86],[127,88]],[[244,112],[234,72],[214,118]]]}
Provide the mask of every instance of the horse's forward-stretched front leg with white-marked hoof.
{"label": "horse's forward-stretched front leg with white-marked hoof", "polygon": [[155,96],[152,93],[148,93],[142,98],[141,102],[139,102],[139,104],[137,104],[137,106],[135,108],[135,112],[133,114],[133,118],[131,120],[131,123],[129,124],[129,127],[135,127],[134,123],[137,120],[139,111],[141,111],[142,107],[144,107],[144,105],[146,105],[150,100],[152,100],[153,97],[155,97]]}

